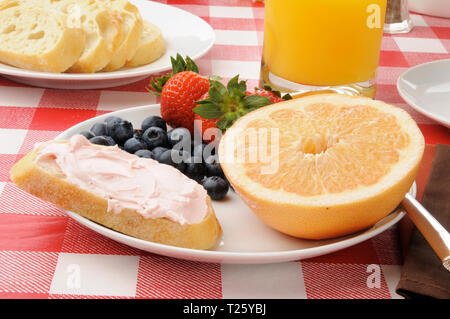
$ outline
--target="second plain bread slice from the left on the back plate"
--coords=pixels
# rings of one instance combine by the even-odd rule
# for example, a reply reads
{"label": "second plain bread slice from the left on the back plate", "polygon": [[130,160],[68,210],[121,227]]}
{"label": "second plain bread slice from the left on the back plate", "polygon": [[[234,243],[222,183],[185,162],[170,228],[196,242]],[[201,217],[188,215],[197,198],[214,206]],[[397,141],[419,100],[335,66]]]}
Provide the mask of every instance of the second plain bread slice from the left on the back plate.
{"label": "second plain bread slice from the left on the back plate", "polygon": [[51,7],[79,19],[86,33],[84,51],[67,71],[93,73],[103,69],[114,56],[122,32],[121,22],[112,10],[89,0],[53,1]]}

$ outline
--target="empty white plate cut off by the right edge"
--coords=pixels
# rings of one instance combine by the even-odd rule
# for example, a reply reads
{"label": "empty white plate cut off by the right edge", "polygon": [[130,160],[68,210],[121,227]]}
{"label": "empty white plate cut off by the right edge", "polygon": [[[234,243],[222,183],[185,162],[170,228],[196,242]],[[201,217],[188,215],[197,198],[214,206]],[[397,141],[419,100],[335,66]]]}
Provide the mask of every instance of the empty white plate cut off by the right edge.
{"label": "empty white plate cut off by the right edge", "polygon": [[397,89],[412,108],[450,127],[450,60],[409,69],[398,78]]}

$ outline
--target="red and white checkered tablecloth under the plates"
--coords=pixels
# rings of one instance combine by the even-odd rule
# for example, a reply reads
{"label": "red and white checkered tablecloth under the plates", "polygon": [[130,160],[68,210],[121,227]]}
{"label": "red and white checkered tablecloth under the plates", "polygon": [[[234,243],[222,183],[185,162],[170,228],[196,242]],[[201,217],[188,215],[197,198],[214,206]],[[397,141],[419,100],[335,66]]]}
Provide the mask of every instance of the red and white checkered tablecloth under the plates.
{"label": "red and white checkered tablecloth under the plates", "polygon": [[[252,0],[159,1],[192,12],[217,42],[198,61],[203,74],[240,74],[258,84],[264,7]],[[450,19],[412,15],[413,32],[385,35],[377,98],[407,110],[425,135],[419,198],[436,143],[450,131],[412,110],[397,93],[398,76],[414,65],[450,58]],[[398,298],[402,256],[398,227],[354,247],[309,260],[264,265],[206,264],[146,253],[109,240],[58,207],[19,190],[9,169],[36,142],[106,112],[147,105],[149,79],[104,90],[28,87],[0,77],[0,297],[3,298]],[[369,288],[368,265],[380,286]],[[68,285],[82,271],[81,288]],[[372,269],[372,268],[369,268]],[[368,272],[369,271],[369,272]]]}

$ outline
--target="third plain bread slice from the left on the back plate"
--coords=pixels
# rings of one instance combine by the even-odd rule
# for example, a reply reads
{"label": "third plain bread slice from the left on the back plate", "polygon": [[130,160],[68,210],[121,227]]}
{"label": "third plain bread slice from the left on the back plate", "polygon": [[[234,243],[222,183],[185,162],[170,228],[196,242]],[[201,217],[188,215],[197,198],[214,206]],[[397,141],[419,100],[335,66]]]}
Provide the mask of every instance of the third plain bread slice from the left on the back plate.
{"label": "third plain bread slice from the left on the back plate", "polygon": [[126,0],[97,1],[114,10],[117,17],[123,22],[124,32],[119,46],[111,61],[103,68],[103,71],[115,71],[123,67],[135,55],[143,29],[142,18],[139,10]]}

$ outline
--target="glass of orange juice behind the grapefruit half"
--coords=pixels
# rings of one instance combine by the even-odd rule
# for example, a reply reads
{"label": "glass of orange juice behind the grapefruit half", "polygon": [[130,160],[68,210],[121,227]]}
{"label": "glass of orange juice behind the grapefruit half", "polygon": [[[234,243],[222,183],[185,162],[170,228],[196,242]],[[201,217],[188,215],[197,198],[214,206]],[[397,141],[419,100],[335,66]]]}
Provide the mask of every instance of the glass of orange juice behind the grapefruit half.
{"label": "glass of orange juice behind the grapefruit half", "polygon": [[261,84],[375,96],[387,0],[266,0]]}

